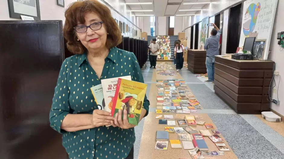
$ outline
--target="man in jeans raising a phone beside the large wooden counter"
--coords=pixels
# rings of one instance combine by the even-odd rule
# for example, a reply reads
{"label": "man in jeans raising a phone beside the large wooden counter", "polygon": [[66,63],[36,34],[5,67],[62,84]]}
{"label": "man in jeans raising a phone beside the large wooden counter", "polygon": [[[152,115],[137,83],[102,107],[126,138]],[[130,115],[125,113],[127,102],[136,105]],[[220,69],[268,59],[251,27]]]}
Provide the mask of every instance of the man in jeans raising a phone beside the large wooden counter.
{"label": "man in jeans raising a phone beside the large wooden counter", "polygon": [[208,80],[204,81],[206,83],[214,82],[214,73],[215,73],[215,56],[219,55],[219,41],[221,31],[218,27],[212,23],[212,26],[215,28],[211,31],[211,36],[205,41],[204,49],[206,50],[206,68]]}

